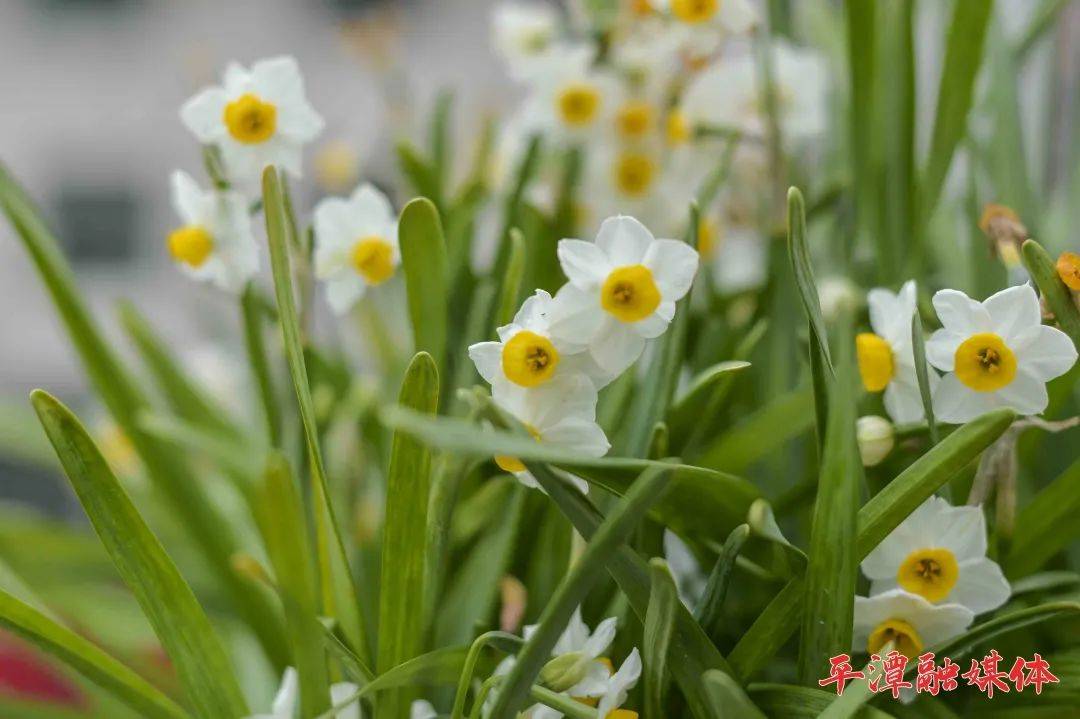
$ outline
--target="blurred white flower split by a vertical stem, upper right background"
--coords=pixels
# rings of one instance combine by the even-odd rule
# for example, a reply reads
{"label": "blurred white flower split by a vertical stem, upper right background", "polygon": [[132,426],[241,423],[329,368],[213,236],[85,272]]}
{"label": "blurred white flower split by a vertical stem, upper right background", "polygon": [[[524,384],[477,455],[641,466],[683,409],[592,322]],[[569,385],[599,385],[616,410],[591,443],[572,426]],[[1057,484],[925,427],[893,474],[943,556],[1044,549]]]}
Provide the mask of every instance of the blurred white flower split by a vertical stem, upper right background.
{"label": "blurred white flower split by a vertical stem, upper right background", "polygon": [[[782,41],[774,42],[772,50],[781,134],[793,141],[822,134],[828,80],[825,60],[814,51]],[[757,59],[751,54],[720,57],[690,81],[680,109],[690,127],[764,136],[767,118]]]}

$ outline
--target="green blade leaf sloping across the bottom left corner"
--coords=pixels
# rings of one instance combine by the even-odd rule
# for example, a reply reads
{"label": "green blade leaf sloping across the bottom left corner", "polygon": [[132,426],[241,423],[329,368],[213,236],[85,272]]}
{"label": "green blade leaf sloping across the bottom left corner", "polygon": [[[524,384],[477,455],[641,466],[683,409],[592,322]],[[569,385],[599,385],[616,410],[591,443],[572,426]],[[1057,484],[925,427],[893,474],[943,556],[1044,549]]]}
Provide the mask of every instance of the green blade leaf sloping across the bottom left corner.
{"label": "green blade leaf sloping across the bottom left corner", "polygon": [[188,714],[96,645],[0,589],[0,626],[32,642],[139,713],[161,719]]}

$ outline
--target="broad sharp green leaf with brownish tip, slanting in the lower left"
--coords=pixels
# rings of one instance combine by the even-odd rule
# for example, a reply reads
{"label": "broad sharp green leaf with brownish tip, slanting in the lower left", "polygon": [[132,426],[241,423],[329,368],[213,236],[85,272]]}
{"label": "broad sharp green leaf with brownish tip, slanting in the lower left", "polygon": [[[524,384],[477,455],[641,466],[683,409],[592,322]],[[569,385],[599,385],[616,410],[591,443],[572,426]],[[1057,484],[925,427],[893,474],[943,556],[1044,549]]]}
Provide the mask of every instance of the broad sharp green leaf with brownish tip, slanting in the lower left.
{"label": "broad sharp green leaf with brownish tip, slanting in the lower left", "polygon": [[35,390],[30,399],[94,531],[153,626],[197,715],[246,715],[247,705],[210,620],[90,435],[48,393]]}

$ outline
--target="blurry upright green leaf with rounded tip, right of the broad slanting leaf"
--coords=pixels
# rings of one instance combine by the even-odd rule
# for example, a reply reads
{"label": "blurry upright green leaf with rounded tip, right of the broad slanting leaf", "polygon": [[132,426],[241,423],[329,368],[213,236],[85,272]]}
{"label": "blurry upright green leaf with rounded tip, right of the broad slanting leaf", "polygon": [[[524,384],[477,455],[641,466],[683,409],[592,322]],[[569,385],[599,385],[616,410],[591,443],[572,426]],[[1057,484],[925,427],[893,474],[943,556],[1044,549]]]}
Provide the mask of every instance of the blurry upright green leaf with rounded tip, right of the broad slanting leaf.
{"label": "blurry upright green leaf with rounded tip, right of the broad slanting leaf", "polygon": [[285,609],[285,628],[300,686],[300,714],[329,708],[329,675],[319,623],[319,573],[312,562],[303,505],[288,461],[275,452],[267,462],[258,502],[267,554]]}

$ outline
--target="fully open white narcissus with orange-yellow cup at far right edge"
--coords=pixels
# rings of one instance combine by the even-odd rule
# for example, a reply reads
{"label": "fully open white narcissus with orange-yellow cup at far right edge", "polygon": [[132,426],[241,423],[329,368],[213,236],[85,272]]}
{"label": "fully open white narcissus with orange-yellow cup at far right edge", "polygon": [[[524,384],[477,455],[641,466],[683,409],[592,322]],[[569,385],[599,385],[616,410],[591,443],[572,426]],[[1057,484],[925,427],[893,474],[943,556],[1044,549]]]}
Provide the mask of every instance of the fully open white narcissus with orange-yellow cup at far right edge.
{"label": "fully open white narcissus with orange-yellow cup at far right edge", "polygon": [[933,395],[939,421],[961,423],[996,407],[1021,415],[1047,408],[1045,383],[1077,361],[1068,336],[1042,324],[1039,298],[1017,285],[976,302],[961,291],[934,295],[943,327],[927,341],[927,360],[944,372]]}

